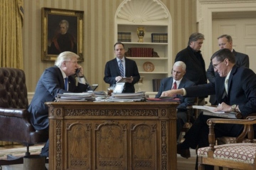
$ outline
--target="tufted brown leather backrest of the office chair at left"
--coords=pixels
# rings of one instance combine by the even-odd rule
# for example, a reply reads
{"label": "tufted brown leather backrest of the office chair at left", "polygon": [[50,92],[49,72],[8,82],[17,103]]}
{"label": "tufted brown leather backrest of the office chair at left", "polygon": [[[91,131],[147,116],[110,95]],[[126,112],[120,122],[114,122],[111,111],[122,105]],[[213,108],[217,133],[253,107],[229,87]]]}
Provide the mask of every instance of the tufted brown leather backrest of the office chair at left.
{"label": "tufted brown leather backrest of the office chair at left", "polygon": [[0,107],[27,109],[27,87],[23,70],[0,68]]}

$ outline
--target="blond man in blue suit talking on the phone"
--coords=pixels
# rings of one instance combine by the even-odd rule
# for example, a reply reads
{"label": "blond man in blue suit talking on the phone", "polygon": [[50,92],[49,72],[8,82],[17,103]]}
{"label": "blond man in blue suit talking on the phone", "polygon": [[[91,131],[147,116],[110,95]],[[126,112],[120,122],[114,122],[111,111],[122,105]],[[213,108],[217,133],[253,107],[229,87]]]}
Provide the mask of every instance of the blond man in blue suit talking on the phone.
{"label": "blond man in blue suit talking on the phone", "polygon": [[[68,92],[86,92],[92,90],[86,83],[83,68],[77,63],[79,56],[70,51],[60,53],[55,61],[55,66],[46,68],[37,82],[34,97],[28,106],[30,121],[35,130],[49,131],[48,106],[45,102],[55,100],[57,94]],[[79,69],[79,72],[76,72]],[[76,86],[75,75],[78,76]],[[64,79],[68,78],[65,85]],[[49,140],[42,148],[42,155],[49,156]]]}

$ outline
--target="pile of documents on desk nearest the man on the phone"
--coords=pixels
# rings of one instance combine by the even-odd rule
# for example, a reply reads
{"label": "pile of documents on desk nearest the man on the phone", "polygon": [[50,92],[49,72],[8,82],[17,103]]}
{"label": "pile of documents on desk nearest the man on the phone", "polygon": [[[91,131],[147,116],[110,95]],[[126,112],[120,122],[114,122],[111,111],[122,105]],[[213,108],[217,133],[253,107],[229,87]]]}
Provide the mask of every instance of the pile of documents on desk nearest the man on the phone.
{"label": "pile of documents on desk nearest the man on the phone", "polygon": [[84,93],[63,93],[57,94],[55,102],[85,102],[85,101],[94,101],[95,94],[92,92]]}

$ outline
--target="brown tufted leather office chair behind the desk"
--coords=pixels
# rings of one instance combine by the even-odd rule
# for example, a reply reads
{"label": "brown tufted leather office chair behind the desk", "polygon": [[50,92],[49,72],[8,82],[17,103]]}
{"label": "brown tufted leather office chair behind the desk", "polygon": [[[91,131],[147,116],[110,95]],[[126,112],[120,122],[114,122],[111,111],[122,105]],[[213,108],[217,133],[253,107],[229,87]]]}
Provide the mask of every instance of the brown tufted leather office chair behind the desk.
{"label": "brown tufted leather office chair behind the desk", "polygon": [[[24,71],[0,68],[0,141],[23,143],[27,147],[26,156],[30,155],[29,146],[44,143],[48,139],[46,132],[33,128],[27,108]],[[7,160],[0,160],[0,166],[22,163],[23,157],[16,158],[11,155],[7,156]]]}

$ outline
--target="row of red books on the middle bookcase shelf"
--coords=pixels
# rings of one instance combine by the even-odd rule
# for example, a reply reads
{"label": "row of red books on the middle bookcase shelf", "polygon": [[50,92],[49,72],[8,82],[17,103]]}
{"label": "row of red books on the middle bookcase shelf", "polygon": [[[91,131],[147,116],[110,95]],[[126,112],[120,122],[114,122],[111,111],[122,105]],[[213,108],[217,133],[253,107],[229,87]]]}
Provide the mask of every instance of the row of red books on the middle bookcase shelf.
{"label": "row of red books on the middle bookcase shelf", "polygon": [[153,48],[128,48],[125,53],[126,57],[159,57]]}

